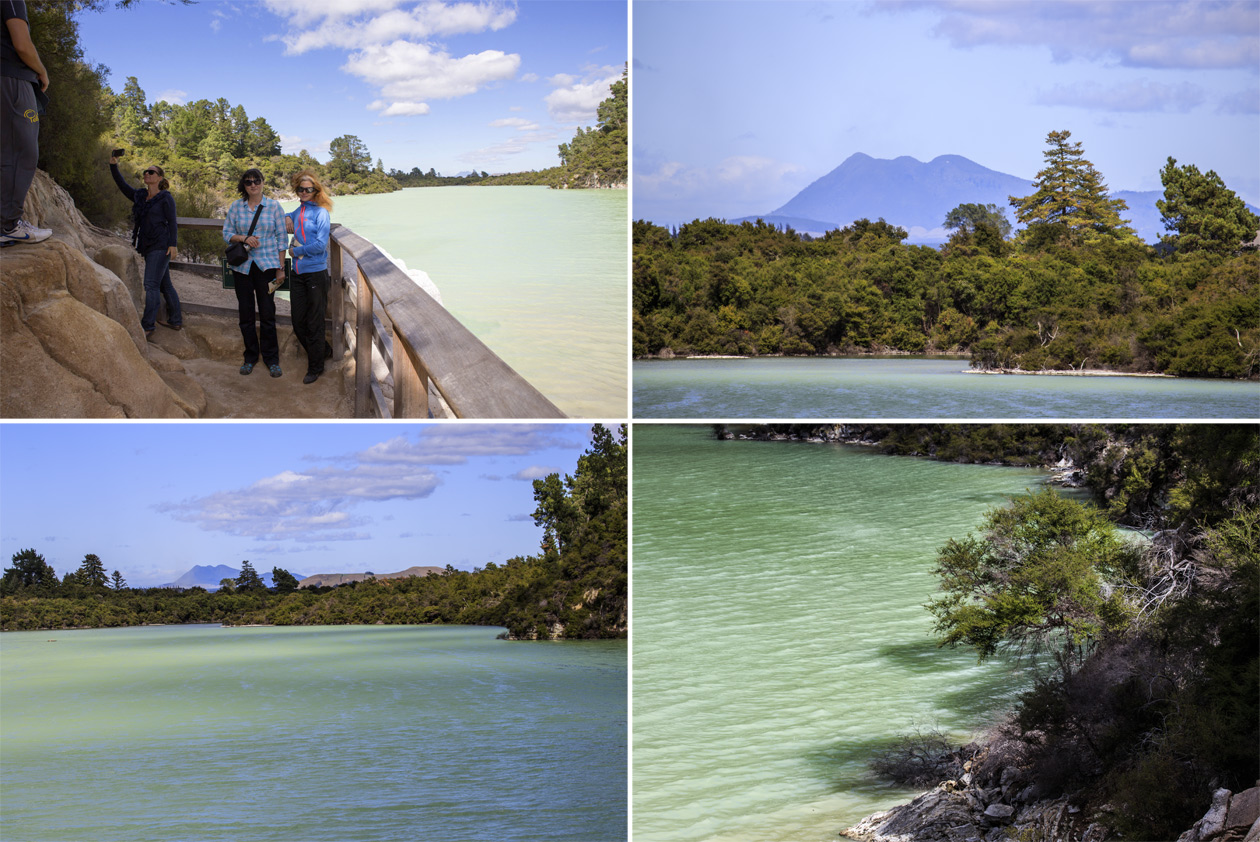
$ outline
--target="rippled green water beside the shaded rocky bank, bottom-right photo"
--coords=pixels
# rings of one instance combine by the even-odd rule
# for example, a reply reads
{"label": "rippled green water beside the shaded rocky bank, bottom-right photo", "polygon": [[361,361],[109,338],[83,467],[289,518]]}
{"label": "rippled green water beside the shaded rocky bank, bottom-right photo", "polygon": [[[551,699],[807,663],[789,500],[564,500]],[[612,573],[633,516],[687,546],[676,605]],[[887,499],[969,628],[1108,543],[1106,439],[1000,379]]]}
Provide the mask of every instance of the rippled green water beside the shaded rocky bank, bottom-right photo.
{"label": "rippled green water beside the shaded rocky bank, bottom-right photo", "polygon": [[936,550],[1034,470],[634,427],[636,842],[814,842],[908,800],[867,771],[1027,677],[937,649]]}

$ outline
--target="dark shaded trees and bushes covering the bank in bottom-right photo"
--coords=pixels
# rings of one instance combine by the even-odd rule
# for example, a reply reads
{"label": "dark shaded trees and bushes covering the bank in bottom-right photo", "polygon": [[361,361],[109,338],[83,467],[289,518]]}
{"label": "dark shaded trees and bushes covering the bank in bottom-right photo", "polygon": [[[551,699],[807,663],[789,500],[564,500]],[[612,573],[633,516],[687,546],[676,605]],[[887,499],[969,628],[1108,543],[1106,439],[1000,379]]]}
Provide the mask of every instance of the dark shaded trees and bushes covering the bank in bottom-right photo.
{"label": "dark shaded trees and bushes covering the bank in bottom-right photo", "polygon": [[[1126,839],[1177,838],[1217,788],[1254,785],[1255,425],[775,425],[748,435],[951,461],[1070,463],[1084,474],[1095,504],[1032,493],[939,550],[940,589],[925,606],[937,642],[1043,666],[985,737],[970,785],[997,788],[1013,807],[1068,797],[1081,808],[1076,832],[1101,821]],[[1123,537],[1115,523],[1148,537]],[[896,751],[874,765],[931,771],[931,759]],[[936,780],[961,775],[948,756],[940,771]]]}

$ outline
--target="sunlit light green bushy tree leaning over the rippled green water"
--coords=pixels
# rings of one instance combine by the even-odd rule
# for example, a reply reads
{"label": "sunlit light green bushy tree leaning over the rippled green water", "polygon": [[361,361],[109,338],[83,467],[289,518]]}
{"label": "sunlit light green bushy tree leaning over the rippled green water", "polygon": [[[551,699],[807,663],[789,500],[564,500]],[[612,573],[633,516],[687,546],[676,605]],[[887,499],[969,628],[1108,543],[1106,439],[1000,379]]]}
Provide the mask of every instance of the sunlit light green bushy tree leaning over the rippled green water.
{"label": "sunlit light green bushy tree leaning over the rippled green water", "polygon": [[940,645],[974,647],[982,660],[1007,647],[1050,652],[1066,678],[1126,625],[1119,585],[1137,563],[1102,512],[1043,489],[989,512],[979,537],[940,550],[932,572],[944,595],[927,610]]}

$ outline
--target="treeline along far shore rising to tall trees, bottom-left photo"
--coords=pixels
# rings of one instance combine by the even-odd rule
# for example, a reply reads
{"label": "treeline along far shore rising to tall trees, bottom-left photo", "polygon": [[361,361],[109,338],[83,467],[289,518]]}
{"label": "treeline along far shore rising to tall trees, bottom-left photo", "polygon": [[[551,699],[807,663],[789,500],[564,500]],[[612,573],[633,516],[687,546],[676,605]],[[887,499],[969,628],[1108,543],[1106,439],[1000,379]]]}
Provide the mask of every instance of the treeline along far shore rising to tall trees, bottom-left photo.
{"label": "treeline along far shore rising to tall trees, bottom-left photo", "polygon": [[[627,630],[626,431],[592,427],[592,446],[572,475],[534,480],[542,552],[484,568],[296,589],[276,570],[267,589],[246,562],[217,592],[127,589],[83,566],[58,581],[34,550],[0,579],[4,630],[265,623],[275,625],[454,623],[503,625],[519,639],[621,638]],[[84,560],[84,565],[88,563]],[[91,566],[91,570],[96,570]],[[121,584],[120,584],[121,582]]]}

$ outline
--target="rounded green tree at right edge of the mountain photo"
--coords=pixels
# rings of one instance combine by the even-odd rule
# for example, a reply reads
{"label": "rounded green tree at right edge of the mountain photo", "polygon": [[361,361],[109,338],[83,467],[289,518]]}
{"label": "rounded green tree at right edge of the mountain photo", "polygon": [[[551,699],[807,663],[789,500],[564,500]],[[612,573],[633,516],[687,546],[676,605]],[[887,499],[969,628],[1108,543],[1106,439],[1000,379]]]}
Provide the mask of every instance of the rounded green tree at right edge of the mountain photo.
{"label": "rounded green tree at right edge of the mountain photo", "polygon": [[1177,166],[1177,159],[1169,156],[1159,180],[1164,198],[1155,207],[1164,228],[1173,232],[1164,234],[1163,242],[1177,251],[1227,255],[1260,231],[1260,218],[1213,170],[1200,173],[1193,164]]}

